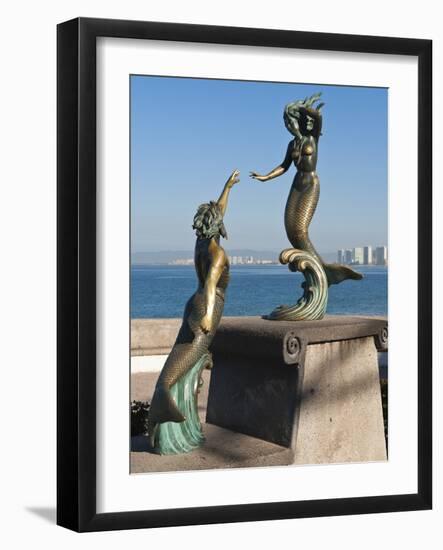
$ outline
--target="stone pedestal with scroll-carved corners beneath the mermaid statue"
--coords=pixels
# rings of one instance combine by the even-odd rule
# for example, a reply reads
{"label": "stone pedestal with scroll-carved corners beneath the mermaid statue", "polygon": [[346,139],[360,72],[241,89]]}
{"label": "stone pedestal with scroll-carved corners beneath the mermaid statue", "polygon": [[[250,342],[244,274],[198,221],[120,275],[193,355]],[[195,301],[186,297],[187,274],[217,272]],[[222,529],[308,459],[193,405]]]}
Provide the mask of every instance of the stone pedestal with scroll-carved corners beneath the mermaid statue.
{"label": "stone pedestal with scroll-carved corners beneath the mermaid statue", "polygon": [[297,464],[386,459],[377,351],[385,319],[225,319],[206,421],[291,449]]}

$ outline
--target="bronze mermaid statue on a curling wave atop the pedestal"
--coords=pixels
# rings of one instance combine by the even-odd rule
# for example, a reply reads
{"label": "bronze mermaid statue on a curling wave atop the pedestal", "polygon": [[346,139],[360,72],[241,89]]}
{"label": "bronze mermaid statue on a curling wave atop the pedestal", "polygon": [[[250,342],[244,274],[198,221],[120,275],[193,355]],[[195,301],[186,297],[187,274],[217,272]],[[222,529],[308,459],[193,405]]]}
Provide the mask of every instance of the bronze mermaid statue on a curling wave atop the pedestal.
{"label": "bronze mermaid statue on a curling wave atop the pedestal", "polygon": [[320,195],[320,180],[316,172],[318,141],[321,135],[323,103],[314,104],[320,93],[286,105],[283,119],[294,136],[289,142],[283,162],[266,175],[251,172],[259,181],[268,181],[284,174],[292,163],[295,174],[285,209],[285,229],[294,248],[280,254],[280,262],[291,271],[301,271],[305,281],[302,297],[293,306],[279,306],[270,315],[275,320],[321,319],[326,311],[328,286],[346,279],[361,279],[350,267],[323,262],[309,239],[308,229]]}

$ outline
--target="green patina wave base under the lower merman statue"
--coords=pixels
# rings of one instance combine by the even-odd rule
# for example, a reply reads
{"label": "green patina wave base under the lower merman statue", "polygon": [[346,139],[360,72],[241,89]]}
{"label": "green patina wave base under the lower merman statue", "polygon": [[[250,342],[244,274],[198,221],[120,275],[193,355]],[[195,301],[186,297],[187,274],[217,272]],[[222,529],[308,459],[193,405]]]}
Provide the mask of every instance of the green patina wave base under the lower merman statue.
{"label": "green patina wave base under the lower merman statue", "polygon": [[211,354],[206,353],[171,387],[171,396],[185,420],[151,426],[154,452],[162,455],[188,453],[203,443],[205,437],[198,416],[198,388],[202,370],[211,364]]}

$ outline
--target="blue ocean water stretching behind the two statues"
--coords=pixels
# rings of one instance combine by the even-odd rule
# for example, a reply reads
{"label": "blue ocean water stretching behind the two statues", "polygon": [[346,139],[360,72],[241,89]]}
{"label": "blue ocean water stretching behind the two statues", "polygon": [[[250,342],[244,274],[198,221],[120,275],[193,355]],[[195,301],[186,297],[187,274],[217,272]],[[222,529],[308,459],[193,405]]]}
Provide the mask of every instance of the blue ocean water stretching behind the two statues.
{"label": "blue ocean water stretching behind the two statues", "polygon": [[[355,269],[364,278],[332,285],[327,313],[387,315],[387,268]],[[302,282],[300,273],[291,273],[282,265],[231,266],[224,315],[265,315],[280,304],[294,304],[302,295]],[[193,266],[132,266],[131,318],[181,317],[196,288]]]}

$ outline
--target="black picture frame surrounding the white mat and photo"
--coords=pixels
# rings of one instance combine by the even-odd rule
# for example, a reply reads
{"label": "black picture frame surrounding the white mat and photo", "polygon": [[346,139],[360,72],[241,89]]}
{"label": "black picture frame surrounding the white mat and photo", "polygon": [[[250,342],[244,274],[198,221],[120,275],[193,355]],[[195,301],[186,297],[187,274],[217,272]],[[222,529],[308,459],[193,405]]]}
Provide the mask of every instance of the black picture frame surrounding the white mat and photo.
{"label": "black picture frame surrounding the white mat and photo", "polygon": [[[173,40],[418,59],[416,494],[96,512],[96,39]],[[75,531],[425,510],[432,507],[432,42],[78,18],[57,29],[57,523]]]}

